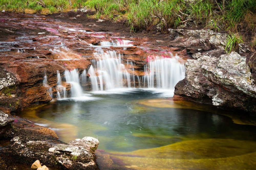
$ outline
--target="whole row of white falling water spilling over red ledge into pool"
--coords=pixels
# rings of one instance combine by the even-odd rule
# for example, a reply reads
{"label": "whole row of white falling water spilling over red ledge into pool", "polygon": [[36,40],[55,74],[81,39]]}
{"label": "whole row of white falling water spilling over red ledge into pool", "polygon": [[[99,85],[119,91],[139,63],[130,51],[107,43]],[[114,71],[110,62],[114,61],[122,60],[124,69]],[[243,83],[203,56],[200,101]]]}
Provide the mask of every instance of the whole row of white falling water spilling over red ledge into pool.
{"label": "whole row of white falling water spilling over red ledge into pool", "polygon": [[[132,41],[128,40],[116,40],[115,42],[101,42],[100,45],[132,46],[131,43]],[[88,97],[88,92],[97,94],[123,93],[134,88],[167,93],[168,96],[172,96],[175,85],[185,78],[184,64],[179,62],[178,56],[165,58],[155,56],[145,64],[145,75],[137,76],[133,74],[135,72],[134,62],[128,60],[124,62],[123,57],[115,51],[104,52],[100,48],[95,50],[97,51],[94,53],[95,59],[91,60],[92,65],[88,72],[83,70],[79,73],[78,69],[64,72],[65,82],[71,85],[69,95],[71,98]],[[129,65],[130,68],[125,68],[125,64]],[[57,99],[65,99],[67,98],[67,90],[63,86],[59,71],[57,71],[57,78]],[[88,89],[90,90],[88,91]]]}

